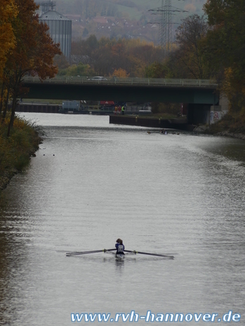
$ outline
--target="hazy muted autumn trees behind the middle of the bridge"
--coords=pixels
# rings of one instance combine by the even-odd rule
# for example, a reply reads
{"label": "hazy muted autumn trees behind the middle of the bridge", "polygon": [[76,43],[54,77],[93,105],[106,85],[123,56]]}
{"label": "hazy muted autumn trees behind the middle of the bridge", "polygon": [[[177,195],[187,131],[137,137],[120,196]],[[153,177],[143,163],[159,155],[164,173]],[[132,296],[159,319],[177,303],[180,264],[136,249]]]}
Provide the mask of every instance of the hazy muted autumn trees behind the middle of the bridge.
{"label": "hazy muted autumn trees behind the middle of the bridge", "polygon": [[72,55],[89,64],[98,76],[124,71],[125,76],[143,77],[148,64],[161,60],[161,48],[140,39],[98,40],[91,35],[86,40],[72,42]]}

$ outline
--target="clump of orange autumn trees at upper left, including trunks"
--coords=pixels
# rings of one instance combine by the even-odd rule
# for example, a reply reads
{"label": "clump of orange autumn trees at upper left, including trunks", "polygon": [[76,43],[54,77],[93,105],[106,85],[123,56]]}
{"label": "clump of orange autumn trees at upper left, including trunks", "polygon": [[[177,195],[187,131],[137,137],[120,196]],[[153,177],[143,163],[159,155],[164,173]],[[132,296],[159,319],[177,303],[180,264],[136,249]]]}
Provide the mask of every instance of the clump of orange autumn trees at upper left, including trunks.
{"label": "clump of orange autumn trees at upper left, including trunks", "polygon": [[41,80],[58,72],[53,57],[60,54],[59,44],[48,35],[48,26],[39,23],[39,6],[34,0],[1,0],[0,4],[0,112],[6,117],[11,100],[11,118],[7,136],[15,118],[18,97],[27,93],[22,87],[26,74]]}

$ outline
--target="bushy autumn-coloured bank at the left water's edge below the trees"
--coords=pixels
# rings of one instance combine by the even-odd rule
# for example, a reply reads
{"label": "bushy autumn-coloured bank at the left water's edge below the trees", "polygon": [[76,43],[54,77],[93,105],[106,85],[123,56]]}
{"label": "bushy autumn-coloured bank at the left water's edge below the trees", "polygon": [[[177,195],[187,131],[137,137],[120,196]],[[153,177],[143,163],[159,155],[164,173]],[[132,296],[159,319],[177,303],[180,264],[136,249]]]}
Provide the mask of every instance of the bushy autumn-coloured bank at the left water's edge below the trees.
{"label": "bushy autumn-coloured bank at the left water's edge below the trees", "polygon": [[8,123],[7,117],[0,127],[0,191],[6,188],[13,175],[27,167],[30,156],[35,156],[41,143],[37,126],[18,117],[11,136],[6,137]]}

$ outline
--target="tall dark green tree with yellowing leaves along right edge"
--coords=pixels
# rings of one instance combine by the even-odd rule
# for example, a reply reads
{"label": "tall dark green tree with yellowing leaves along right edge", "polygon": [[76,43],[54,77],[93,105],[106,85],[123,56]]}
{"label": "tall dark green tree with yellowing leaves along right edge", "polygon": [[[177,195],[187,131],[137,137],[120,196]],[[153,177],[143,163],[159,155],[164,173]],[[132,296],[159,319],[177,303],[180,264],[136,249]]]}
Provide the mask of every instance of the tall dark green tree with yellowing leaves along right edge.
{"label": "tall dark green tree with yellowing leaves along right edge", "polygon": [[206,62],[230,100],[230,110],[245,108],[245,1],[208,0],[204,5],[210,29],[204,47]]}

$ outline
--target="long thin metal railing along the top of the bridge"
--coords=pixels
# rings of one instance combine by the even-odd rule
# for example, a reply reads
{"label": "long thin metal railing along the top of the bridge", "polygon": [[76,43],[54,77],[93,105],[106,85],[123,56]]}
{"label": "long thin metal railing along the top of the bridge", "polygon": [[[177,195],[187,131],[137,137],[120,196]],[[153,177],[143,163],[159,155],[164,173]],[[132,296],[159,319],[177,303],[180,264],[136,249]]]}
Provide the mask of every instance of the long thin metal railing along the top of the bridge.
{"label": "long thin metal railing along the top of the bridge", "polygon": [[56,83],[56,84],[86,84],[86,85],[122,85],[122,86],[183,86],[183,87],[211,87],[216,88],[217,83],[208,79],[161,79],[161,78],[115,78],[105,77],[101,80],[93,80],[86,76],[56,76],[53,79],[40,81],[39,77],[25,76],[27,83]]}

